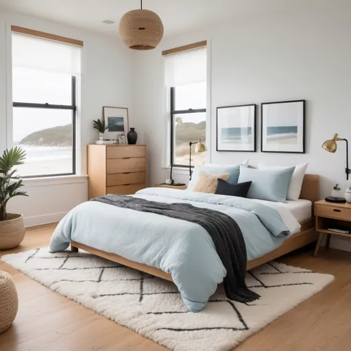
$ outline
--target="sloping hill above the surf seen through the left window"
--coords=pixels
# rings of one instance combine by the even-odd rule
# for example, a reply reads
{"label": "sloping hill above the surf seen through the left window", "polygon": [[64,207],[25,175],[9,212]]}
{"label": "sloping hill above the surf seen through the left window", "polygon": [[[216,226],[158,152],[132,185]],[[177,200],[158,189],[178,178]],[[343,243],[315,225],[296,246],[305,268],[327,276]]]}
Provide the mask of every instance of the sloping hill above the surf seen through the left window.
{"label": "sloping hill above the surf seen through the left window", "polygon": [[20,142],[20,145],[42,145],[42,146],[72,146],[72,125],[60,125],[47,128],[27,135]]}

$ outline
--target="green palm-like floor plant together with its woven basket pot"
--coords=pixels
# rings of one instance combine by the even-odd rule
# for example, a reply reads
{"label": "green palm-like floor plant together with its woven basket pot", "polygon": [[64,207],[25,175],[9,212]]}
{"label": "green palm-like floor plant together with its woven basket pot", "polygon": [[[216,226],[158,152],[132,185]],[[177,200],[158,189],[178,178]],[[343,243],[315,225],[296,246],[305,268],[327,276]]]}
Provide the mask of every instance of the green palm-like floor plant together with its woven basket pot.
{"label": "green palm-like floor plant together with its woven basket pot", "polygon": [[8,201],[16,196],[27,196],[20,191],[23,180],[16,176],[17,165],[23,165],[25,151],[21,147],[6,149],[0,157],[0,250],[18,246],[25,236],[23,215],[7,212]]}

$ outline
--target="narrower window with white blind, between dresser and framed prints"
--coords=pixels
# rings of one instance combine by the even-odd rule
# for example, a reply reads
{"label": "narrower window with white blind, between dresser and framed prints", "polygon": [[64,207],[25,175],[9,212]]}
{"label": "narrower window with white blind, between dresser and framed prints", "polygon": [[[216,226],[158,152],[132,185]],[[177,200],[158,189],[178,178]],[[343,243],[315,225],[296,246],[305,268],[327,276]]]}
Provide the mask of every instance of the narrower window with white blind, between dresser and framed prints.
{"label": "narrower window with white blind, between dresser and framed prints", "polygon": [[[189,142],[206,142],[206,47],[166,56],[166,84],[170,93],[171,165],[189,167]],[[206,153],[191,164],[202,164]]]}

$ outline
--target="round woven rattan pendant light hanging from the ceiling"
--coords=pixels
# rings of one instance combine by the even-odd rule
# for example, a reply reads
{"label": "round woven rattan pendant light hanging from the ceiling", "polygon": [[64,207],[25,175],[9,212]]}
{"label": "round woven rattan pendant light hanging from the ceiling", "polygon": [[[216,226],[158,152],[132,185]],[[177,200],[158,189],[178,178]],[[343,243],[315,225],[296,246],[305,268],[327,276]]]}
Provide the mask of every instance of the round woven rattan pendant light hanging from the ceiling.
{"label": "round woven rattan pendant light hanging from the ceiling", "polygon": [[134,50],[152,50],[163,36],[160,17],[152,11],[141,9],[127,12],[119,23],[119,36],[123,43]]}

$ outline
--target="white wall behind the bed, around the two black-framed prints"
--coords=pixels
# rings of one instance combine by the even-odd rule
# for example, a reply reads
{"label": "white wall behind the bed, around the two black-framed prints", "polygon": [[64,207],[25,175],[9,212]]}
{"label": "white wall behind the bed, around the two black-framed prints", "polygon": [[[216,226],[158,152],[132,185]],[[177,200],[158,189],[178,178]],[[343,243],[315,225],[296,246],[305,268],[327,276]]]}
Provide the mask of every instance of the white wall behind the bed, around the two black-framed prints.
{"label": "white wall behind the bed, around the two black-framed prints", "polygon": [[[332,185],[346,188],[346,148],[336,154],[321,145],[338,132],[351,139],[351,2],[305,1],[294,12],[261,14],[168,38],[152,53],[138,53],[135,73],[135,113],[138,134],[147,143],[149,185],[169,178],[165,150],[169,150],[169,113],[165,106],[163,49],[208,40],[210,104],[207,158],[213,163],[237,163],[250,158],[271,165],[309,162],[308,173],[321,176],[321,198]],[[236,104],[306,99],[306,154],[216,152],[216,108]],[[260,123],[258,140],[260,145]],[[141,128],[141,129],[140,129]],[[260,147],[258,146],[258,150]],[[189,176],[174,175],[187,182]],[[351,186],[351,183],[348,183]]]}

